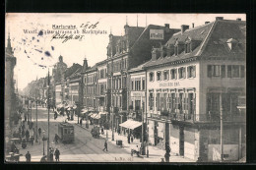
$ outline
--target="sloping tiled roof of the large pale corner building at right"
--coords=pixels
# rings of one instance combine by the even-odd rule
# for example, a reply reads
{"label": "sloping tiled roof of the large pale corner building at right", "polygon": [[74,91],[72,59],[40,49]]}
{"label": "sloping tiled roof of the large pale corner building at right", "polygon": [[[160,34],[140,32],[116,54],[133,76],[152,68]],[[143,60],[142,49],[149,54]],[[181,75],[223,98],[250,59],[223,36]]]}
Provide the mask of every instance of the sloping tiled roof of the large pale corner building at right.
{"label": "sloping tiled roof of the large pale corner building at right", "polygon": [[176,41],[185,42],[187,38],[195,41],[196,46],[190,53],[185,53],[184,50],[178,55],[160,57],[159,59],[147,63],[144,68],[156,67],[163,64],[170,64],[171,62],[180,60],[190,60],[197,57],[209,56],[241,56],[244,50],[238,49],[238,52],[230,52],[226,47],[226,41],[230,38],[238,40],[238,42],[245,44],[245,34],[243,27],[245,22],[241,21],[227,21],[219,20],[200,27],[190,28],[173,34],[173,36],[165,43],[164,46],[173,46]]}

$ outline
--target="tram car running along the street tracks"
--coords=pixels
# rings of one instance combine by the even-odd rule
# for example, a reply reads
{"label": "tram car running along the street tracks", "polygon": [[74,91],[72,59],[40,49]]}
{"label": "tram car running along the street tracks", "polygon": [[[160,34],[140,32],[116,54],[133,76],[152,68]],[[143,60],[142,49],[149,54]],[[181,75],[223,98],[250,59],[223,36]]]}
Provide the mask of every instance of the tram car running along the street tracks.
{"label": "tram car running along the street tracks", "polygon": [[58,136],[61,142],[69,143],[75,141],[74,126],[69,123],[59,123]]}

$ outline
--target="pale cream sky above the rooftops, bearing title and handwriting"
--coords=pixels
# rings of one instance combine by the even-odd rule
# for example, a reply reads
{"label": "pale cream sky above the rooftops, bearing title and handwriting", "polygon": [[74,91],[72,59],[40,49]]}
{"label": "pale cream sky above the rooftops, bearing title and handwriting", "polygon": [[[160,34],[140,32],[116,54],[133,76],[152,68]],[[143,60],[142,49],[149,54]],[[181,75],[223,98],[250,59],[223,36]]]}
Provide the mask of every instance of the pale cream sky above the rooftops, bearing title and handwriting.
{"label": "pale cream sky above the rooftops, bearing title and handwriting", "polygon": [[[36,78],[45,77],[48,69],[51,74],[53,65],[60,55],[63,56],[63,61],[68,67],[73,63],[83,65],[85,57],[89,66],[106,59],[110,30],[114,35],[123,35],[126,23],[136,27],[137,18],[139,27],[169,24],[170,28],[180,28],[181,25],[189,25],[191,28],[192,23],[198,27],[205,22],[215,21],[216,17],[224,17],[224,20],[240,18],[246,21],[245,14],[8,13],[5,35],[7,44],[8,32],[10,32],[14,56],[17,58],[14,78],[18,79],[18,88],[23,89]],[[76,26],[76,28],[59,29],[72,32],[59,32],[57,35],[56,32],[52,32],[57,30],[53,29],[56,26],[59,26],[58,28]],[[87,30],[93,28],[101,33],[83,33],[85,26]],[[90,26],[92,28],[89,28]],[[64,39],[52,38],[54,35],[59,37],[64,34],[73,34],[74,39],[63,42]]]}

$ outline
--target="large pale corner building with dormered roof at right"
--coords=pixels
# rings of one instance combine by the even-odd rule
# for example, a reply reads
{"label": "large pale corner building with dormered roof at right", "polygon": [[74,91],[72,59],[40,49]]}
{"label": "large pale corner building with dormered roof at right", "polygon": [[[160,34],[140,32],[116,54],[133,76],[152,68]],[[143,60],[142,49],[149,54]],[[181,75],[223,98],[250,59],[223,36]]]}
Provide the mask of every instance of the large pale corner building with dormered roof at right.
{"label": "large pale corner building with dormered roof at right", "polygon": [[237,100],[245,94],[245,29],[240,19],[217,17],[197,28],[181,26],[153,48],[144,66],[151,144],[167,142],[173,153],[194,160],[219,161],[222,146],[224,160],[244,156],[245,115]]}

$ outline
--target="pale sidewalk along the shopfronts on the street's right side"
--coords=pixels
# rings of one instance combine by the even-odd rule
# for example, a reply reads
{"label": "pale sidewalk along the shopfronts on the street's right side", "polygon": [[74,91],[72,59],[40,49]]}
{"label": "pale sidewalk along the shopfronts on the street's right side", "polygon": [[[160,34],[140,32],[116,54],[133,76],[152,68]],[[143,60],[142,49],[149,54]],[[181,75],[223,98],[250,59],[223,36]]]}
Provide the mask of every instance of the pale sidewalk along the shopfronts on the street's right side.
{"label": "pale sidewalk along the shopfronts on the street's right side", "polygon": [[[59,116],[58,119],[62,118],[63,121],[65,121],[66,116],[62,117]],[[67,121],[71,124],[74,124],[76,126],[80,126],[80,124],[78,124],[78,118],[75,116],[73,121]],[[86,122],[83,121],[82,127],[83,129],[85,129],[86,131],[90,132],[92,131],[94,125],[89,125],[89,128],[86,128]],[[101,130],[100,130],[101,132]],[[108,138],[106,139],[106,132],[108,134]],[[101,135],[100,137],[103,139],[106,139],[107,142],[111,142],[112,144],[116,145],[116,141],[122,141],[122,149],[125,149],[129,154],[131,153],[131,149],[136,149],[136,145],[141,145],[141,142],[139,139],[134,139],[133,142],[128,143],[127,142],[127,137],[124,135],[118,135],[117,133],[114,133],[114,141],[112,141],[112,131],[111,130],[104,130],[104,134]],[[116,145],[118,146],[118,145]],[[149,157],[147,157],[147,155],[142,155],[143,158],[145,159],[145,162],[160,162],[160,158],[164,158],[164,154],[165,154],[165,150],[158,148],[157,146],[154,145],[149,145]],[[147,148],[146,148],[146,152],[147,152]],[[176,156],[174,153],[170,153],[170,162],[195,162],[194,160],[188,159],[188,158],[184,158],[183,156]]]}

